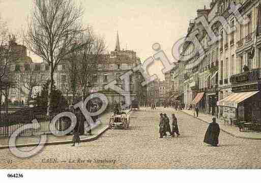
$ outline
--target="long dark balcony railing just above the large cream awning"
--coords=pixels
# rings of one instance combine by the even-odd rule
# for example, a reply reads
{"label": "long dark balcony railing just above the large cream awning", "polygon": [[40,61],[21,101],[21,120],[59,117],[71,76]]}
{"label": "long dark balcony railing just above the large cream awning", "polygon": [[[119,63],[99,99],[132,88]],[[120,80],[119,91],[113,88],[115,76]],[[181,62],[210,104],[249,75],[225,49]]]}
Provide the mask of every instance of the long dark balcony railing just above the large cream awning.
{"label": "long dark balcony railing just above the large cream awning", "polygon": [[252,69],[250,71],[235,74],[230,77],[230,83],[234,85],[248,82],[256,82],[259,80],[261,80],[261,68]]}

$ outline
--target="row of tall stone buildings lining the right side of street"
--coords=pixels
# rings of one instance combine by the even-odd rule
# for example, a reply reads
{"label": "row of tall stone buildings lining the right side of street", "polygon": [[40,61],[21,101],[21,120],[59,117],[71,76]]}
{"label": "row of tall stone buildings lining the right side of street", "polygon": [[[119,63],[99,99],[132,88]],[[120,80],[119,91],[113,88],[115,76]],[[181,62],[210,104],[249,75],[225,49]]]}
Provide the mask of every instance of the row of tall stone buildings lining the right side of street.
{"label": "row of tall stone buildings lining the right side of street", "polygon": [[[241,6],[239,12],[244,20],[248,20],[246,23],[241,23],[231,12],[233,5]],[[172,95],[183,95],[185,104],[192,103],[201,112],[217,117],[261,119],[256,110],[260,108],[256,99],[261,79],[260,7],[260,1],[255,0],[216,0],[211,2],[209,9],[197,10],[196,18],[189,21],[187,38],[194,38],[193,33],[197,31],[196,44],[200,45],[189,41],[183,45],[179,67],[171,71],[176,73],[171,78],[172,88],[179,86],[179,91],[174,90]],[[211,24],[215,36],[220,36],[218,41],[212,40],[200,23],[202,16]],[[217,21],[220,17],[225,19],[228,27]],[[204,49],[204,55],[197,51],[193,53],[194,47],[199,46]],[[182,55],[191,53],[192,57],[183,59]],[[236,101],[239,94],[242,94],[242,101]],[[229,101],[231,99],[235,101]]]}

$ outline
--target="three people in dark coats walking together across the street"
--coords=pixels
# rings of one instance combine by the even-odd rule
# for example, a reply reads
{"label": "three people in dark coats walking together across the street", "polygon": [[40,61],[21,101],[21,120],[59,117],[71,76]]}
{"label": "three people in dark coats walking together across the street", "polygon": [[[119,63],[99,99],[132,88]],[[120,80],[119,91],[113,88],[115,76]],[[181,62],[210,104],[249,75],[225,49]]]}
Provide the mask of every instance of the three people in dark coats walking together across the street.
{"label": "three people in dark coats walking together across the street", "polygon": [[171,137],[175,137],[175,133],[177,134],[178,137],[180,136],[178,119],[176,118],[175,114],[172,114],[172,123],[171,123],[172,130],[170,128],[169,118],[167,117],[166,114],[161,113],[159,121],[160,121],[159,123],[160,138],[163,138],[163,136],[167,136],[167,132]]}

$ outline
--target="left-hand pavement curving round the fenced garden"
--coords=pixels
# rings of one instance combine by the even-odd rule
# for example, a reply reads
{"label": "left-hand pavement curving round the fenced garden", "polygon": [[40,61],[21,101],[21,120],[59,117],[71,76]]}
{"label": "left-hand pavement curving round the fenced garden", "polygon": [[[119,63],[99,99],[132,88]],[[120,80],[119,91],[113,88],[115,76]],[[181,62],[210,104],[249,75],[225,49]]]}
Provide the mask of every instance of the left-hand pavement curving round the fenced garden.
{"label": "left-hand pavement curving round the fenced garden", "polygon": [[[106,113],[100,117],[101,124],[96,128],[92,129],[92,136],[83,135],[80,136],[81,142],[89,142],[96,140],[108,129],[108,123],[110,119],[110,113]],[[47,135],[47,142],[45,145],[57,145],[57,144],[69,144],[73,143],[72,141],[73,136],[62,136],[56,137],[53,135]],[[39,137],[30,136],[30,137],[18,137],[16,139],[16,146],[17,147],[29,147],[29,146],[38,146],[39,145]],[[0,149],[5,149],[8,147],[8,139],[3,138],[0,139]]]}

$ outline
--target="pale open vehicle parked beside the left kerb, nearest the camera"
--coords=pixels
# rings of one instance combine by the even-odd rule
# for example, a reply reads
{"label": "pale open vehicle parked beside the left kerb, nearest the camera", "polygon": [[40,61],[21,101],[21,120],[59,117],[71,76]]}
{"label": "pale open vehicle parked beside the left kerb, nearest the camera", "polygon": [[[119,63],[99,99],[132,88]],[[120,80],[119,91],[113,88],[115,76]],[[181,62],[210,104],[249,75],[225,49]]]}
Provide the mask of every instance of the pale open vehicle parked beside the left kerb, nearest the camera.
{"label": "pale open vehicle parked beside the left kerb, nearest the camera", "polygon": [[130,125],[130,116],[127,114],[112,115],[109,121],[109,128],[127,129]]}

